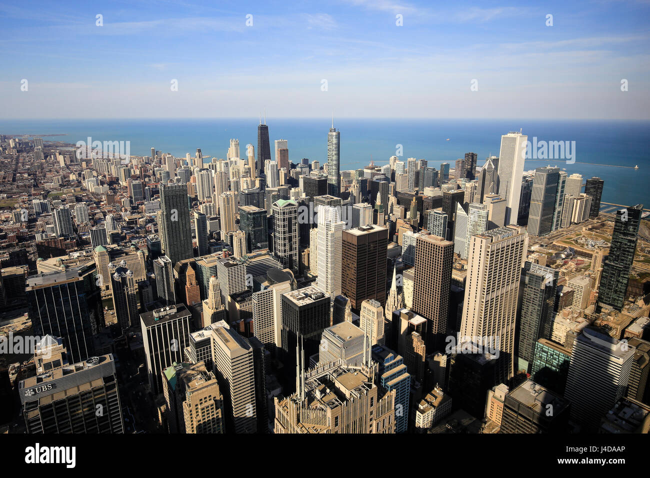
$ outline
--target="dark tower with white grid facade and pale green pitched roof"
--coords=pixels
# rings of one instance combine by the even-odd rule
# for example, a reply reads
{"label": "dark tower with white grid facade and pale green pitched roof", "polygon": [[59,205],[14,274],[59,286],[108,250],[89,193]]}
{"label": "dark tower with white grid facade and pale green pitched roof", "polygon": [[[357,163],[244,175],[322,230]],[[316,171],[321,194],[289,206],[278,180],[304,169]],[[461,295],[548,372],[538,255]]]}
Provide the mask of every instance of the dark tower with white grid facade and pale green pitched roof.
{"label": "dark tower with white grid facade and pale green pitched roof", "polygon": [[278,200],[272,206],[273,253],[287,269],[298,272],[298,203]]}

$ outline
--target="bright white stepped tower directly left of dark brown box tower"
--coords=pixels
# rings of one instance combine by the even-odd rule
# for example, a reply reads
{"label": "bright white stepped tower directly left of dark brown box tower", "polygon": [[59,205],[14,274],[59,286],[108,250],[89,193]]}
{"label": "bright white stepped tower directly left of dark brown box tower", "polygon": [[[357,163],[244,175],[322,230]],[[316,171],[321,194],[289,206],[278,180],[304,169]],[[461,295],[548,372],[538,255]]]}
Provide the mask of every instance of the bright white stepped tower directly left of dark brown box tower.
{"label": "bright white stepped tower directly left of dark brown box tower", "polygon": [[318,206],[316,286],[334,299],[341,294],[341,240],[345,222],[336,207]]}

